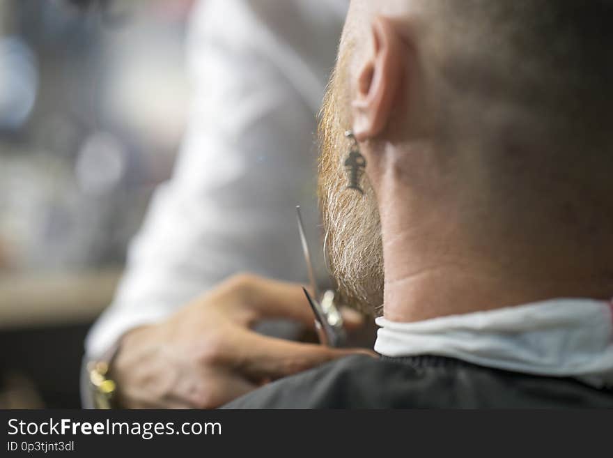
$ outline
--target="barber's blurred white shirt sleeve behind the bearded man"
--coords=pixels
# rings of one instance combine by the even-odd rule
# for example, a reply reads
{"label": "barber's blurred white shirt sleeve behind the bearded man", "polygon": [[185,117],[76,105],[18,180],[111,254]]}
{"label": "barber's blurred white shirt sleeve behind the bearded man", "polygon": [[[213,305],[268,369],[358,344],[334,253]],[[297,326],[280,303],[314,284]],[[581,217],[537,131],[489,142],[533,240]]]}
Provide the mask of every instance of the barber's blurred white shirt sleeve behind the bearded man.
{"label": "barber's blurred white shirt sleeve behind the bearded man", "polygon": [[346,0],[208,0],[188,38],[194,91],[176,169],[155,192],[114,302],[86,340],[100,356],[228,275],[304,280],[295,206],[316,234],[316,113]]}

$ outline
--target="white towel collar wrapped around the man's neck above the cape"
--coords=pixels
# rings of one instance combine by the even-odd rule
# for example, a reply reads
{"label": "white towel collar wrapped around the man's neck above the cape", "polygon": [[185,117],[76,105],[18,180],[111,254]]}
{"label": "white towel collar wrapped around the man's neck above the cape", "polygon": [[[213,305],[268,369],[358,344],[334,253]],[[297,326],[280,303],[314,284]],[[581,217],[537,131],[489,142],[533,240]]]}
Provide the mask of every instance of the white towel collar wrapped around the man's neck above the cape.
{"label": "white towel collar wrapped around the man's neck above the cape", "polygon": [[486,367],[613,386],[613,305],[554,299],[414,323],[383,317],[375,351],[449,356]]}

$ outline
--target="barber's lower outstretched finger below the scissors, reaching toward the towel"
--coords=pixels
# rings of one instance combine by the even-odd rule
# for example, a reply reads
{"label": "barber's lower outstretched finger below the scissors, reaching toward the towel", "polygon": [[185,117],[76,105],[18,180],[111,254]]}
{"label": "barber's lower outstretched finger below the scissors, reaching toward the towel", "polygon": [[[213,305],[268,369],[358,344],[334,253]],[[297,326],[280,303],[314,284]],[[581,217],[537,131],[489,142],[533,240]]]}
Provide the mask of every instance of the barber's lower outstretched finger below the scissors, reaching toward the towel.
{"label": "barber's lower outstretched finger below the scissors, reaching toward the towel", "polygon": [[332,349],[262,335],[249,335],[242,348],[237,369],[247,376],[260,379],[279,379],[344,356],[375,356],[375,353],[365,349]]}

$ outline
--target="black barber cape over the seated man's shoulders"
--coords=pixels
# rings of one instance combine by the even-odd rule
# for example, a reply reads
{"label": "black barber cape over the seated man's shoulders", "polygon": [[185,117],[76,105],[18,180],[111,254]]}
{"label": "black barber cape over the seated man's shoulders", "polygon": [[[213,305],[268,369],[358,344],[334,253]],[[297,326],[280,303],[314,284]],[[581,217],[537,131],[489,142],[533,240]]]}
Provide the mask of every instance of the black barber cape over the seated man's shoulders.
{"label": "black barber cape over the seated man's shoulders", "polygon": [[440,356],[349,356],[287,377],[224,409],[613,408],[613,390]]}

